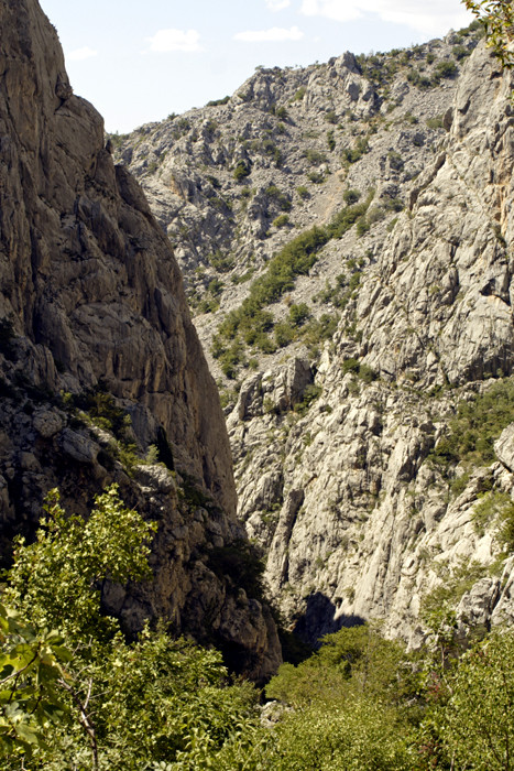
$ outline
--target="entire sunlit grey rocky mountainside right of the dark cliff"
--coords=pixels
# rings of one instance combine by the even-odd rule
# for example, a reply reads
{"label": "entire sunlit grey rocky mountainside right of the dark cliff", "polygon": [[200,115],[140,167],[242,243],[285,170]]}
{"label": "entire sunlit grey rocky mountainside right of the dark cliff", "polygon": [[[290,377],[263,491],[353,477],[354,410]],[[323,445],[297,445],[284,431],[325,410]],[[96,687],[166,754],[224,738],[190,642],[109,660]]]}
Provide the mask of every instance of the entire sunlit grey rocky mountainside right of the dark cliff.
{"label": "entire sunlit grey rocky mountainside right of the dark cliff", "polygon": [[[203,287],[207,344],[291,222],[326,226],[373,191],[266,305],[264,344],[232,324],[211,359],[239,378],[226,413],[240,519],[311,642],[371,618],[417,644],[437,597],[462,633],[514,620],[508,427],[492,449],[514,420],[512,78],[475,43],[461,31],[258,72],[225,104],[142,127],[118,150],[178,245],[194,302]],[[506,406],[479,452],[471,427],[495,400]]]}

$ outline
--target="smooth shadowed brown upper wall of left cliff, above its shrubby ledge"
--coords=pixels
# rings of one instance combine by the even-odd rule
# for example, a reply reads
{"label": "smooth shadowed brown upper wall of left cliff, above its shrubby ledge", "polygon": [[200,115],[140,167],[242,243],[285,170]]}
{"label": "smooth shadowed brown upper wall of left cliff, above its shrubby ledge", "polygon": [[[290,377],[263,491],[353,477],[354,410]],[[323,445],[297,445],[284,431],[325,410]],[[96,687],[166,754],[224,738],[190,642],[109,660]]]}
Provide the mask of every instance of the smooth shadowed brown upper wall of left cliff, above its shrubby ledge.
{"label": "smooth shadowed brown upper wall of left cliff, above its shrubby ledge", "polygon": [[0,93],[0,313],[36,347],[45,383],[77,391],[101,378],[144,405],[134,421],[143,443],[162,424],[178,465],[232,511],[218,395],[168,243],[139,185],[114,167],[101,117],[73,96],[37,3],[2,2],[0,13],[13,31]]}

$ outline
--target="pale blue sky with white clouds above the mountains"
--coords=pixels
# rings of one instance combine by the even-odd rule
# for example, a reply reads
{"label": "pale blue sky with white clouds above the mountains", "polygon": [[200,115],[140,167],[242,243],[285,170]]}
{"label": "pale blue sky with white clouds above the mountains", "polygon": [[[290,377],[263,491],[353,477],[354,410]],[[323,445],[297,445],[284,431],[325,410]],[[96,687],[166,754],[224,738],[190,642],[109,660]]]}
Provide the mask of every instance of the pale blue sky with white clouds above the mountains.
{"label": "pale blue sky with white clouds above the mountains", "polygon": [[75,94],[125,133],[220,99],[256,66],[389,51],[472,21],[459,0],[40,0]]}

